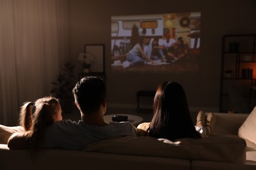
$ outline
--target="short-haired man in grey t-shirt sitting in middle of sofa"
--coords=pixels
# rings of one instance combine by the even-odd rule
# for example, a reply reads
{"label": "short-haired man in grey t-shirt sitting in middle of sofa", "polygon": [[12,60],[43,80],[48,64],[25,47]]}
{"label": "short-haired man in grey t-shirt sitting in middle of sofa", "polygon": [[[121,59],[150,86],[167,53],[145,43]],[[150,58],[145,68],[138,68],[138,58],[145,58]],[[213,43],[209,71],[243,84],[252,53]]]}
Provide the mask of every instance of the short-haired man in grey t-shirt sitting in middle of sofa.
{"label": "short-haired man in grey t-shirt sitting in middle of sofa", "polygon": [[81,120],[61,120],[49,125],[43,147],[79,150],[86,144],[110,137],[137,136],[137,129],[130,122],[104,122],[106,87],[102,79],[94,76],[82,78],[75,85],[73,93]]}

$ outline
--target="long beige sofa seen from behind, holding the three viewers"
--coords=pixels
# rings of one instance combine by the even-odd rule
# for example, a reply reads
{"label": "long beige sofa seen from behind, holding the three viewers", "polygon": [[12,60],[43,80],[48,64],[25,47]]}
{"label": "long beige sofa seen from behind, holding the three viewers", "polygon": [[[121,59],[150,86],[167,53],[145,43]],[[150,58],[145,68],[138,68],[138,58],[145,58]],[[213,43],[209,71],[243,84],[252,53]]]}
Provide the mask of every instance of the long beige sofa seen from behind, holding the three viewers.
{"label": "long beige sofa seen from behind, holding the three viewers", "polygon": [[81,151],[47,149],[33,157],[0,144],[0,169],[256,169],[255,144],[247,141],[247,147],[238,137],[248,114],[216,116],[215,134],[205,139],[116,137]]}

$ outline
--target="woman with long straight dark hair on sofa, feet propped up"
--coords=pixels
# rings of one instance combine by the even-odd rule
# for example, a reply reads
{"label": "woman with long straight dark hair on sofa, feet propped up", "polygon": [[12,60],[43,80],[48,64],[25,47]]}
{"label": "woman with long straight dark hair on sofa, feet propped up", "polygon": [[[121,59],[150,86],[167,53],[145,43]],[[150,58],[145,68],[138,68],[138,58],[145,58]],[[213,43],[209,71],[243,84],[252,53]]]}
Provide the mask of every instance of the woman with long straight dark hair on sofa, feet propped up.
{"label": "woman with long straight dark hair on sofa, feet propped up", "polygon": [[139,124],[140,135],[165,138],[171,141],[181,138],[199,139],[213,133],[215,115],[200,111],[194,126],[186,94],[181,84],[173,81],[158,86],[154,97],[154,115],[151,122]]}

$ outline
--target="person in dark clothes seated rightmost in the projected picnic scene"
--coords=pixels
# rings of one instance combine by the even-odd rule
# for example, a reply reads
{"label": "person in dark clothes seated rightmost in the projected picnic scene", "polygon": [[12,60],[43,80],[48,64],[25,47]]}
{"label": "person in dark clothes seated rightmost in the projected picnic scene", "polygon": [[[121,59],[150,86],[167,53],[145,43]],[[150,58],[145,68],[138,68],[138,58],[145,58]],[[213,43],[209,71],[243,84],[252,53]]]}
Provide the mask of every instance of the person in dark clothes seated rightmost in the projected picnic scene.
{"label": "person in dark clothes seated rightmost in the projected picnic scene", "polygon": [[177,42],[173,43],[168,49],[167,60],[177,61],[182,59],[188,53],[188,43],[184,41],[182,37],[177,39]]}

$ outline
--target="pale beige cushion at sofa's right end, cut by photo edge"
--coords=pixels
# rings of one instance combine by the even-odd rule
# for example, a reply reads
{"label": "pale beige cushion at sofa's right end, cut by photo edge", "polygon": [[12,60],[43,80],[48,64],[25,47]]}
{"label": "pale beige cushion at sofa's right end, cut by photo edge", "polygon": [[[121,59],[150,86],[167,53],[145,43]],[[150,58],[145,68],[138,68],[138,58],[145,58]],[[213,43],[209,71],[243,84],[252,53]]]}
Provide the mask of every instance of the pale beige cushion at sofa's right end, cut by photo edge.
{"label": "pale beige cushion at sofa's right end, cut by photo edge", "polygon": [[238,129],[238,135],[243,139],[251,141],[256,144],[256,107],[252,110],[251,114],[247,117],[244,124]]}

